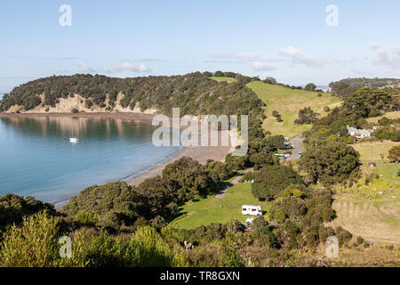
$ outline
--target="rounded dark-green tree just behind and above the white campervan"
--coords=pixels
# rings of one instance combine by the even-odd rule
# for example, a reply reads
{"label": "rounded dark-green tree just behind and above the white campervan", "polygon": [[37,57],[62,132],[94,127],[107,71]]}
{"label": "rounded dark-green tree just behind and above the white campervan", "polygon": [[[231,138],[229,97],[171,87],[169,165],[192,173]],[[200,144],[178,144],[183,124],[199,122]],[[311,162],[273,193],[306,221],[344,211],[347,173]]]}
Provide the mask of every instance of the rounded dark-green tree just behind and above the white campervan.
{"label": "rounded dark-green tree just behind and above the white campervan", "polygon": [[302,184],[302,178],[291,167],[273,165],[256,172],[252,194],[258,199],[275,199],[291,184]]}

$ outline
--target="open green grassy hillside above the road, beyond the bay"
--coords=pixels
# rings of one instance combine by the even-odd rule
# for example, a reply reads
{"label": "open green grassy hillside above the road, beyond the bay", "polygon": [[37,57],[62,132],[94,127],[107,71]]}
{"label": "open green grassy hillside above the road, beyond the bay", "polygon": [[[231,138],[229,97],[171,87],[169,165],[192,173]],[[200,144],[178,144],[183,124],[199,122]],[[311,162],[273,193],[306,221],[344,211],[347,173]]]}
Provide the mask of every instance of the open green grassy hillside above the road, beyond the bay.
{"label": "open green grassy hillside above the road, beyond the bay", "polygon": [[[324,106],[329,106],[332,109],[340,105],[340,99],[331,94],[322,94],[321,97],[318,97],[316,92],[293,90],[284,86],[268,85],[260,81],[254,81],[247,86],[267,104],[266,116],[268,118],[264,121],[263,126],[272,134],[284,134],[284,136],[293,137],[308,130],[311,125],[297,126],[294,124],[301,108],[309,106],[312,110],[324,116]],[[272,116],[273,110],[277,110],[282,115],[283,122],[276,122],[276,118]]]}

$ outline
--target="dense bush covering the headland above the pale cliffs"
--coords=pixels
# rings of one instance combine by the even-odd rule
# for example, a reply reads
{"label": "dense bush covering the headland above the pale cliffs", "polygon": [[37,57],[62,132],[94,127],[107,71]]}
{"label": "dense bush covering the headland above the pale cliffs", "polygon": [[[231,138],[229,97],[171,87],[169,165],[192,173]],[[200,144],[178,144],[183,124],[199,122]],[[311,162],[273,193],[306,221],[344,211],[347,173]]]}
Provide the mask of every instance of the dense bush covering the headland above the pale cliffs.
{"label": "dense bush covering the headland above the pale cliffs", "polygon": [[[39,94],[44,94],[44,102]],[[200,72],[124,79],[89,74],[46,77],[15,87],[11,94],[4,94],[0,110],[8,110],[13,105],[20,105],[25,110],[40,104],[55,107],[60,98],[67,99],[74,94],[84,97],[87,108],[101,105],[112,109],[117,95],[122,94],[121,106],[131,110],[139,103],[140,110],[156,108],[165,115],[172,115],[172,108],[180,107],[182,116],[228,114],[263,117],[261,107],[264,103],[243,83],[217,82]],[[109,106],[105,104],[107,98]]]}

